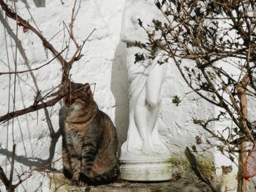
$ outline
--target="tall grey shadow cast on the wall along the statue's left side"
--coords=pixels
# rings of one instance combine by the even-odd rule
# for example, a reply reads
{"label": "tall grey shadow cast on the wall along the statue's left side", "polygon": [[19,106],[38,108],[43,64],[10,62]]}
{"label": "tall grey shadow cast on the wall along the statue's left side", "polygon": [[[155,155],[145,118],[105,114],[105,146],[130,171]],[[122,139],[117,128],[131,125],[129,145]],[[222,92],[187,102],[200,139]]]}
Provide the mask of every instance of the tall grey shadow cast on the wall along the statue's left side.
{"label": "tall grey shadow cast on the wall along the statue's left side", "polygon": [[119,42],[116,46],[112,64],[111,92],[115,97],[115,125],[118,137],[118,154],[127,138],[129,126],[128,77],[126,68],[126,44]]}

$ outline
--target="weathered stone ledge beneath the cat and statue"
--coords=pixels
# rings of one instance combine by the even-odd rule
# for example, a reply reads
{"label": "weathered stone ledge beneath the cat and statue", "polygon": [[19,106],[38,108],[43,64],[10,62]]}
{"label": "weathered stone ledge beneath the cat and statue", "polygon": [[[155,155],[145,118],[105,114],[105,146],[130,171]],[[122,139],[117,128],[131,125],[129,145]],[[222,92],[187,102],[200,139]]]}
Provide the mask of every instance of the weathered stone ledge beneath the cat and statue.
{"label": "weathered stone ledge beneath the cat and statue", "polygon": [[128,182],[118,180],[108,185],[101,186],[71,186],[69,180],[65,179],[62,173],[51,175],[51,192],[78,192],[78,191],[99,191],[99,192],[156,192],[156,191],[179,191],[179,192],[208,192],[211,188],[195,174],[184,172],[182,175],[173,176],[171,180],[165,182]]}

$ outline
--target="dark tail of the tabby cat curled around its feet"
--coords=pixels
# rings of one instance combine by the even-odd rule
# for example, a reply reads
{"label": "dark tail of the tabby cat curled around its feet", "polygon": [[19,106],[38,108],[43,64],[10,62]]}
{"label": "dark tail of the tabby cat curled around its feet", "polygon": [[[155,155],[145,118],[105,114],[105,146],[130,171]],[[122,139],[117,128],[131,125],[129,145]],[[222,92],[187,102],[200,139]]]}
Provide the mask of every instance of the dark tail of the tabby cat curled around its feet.
{"label": "dark tail of the tabby cat curled around its feet", "polygon": [[101,175],[97,175],[97,177],[95,178],[90,178],[83,173],[80,173],[80,179],[88,185],[102,185],[114,182],[118,179],[118,175],[116,173],[114,173],[113,175],[104,173]]}

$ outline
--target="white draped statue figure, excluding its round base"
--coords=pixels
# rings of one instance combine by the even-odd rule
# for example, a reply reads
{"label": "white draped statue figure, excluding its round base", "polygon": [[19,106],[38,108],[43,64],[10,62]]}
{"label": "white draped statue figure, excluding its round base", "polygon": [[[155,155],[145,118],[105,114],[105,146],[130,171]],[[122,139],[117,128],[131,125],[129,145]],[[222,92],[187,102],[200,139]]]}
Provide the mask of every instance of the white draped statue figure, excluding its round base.
{"label": "white draped statue figure, excluding its round base", "polygon": [[[133,0],[124,9],[121,38],[127,44],[127,70],[129,79],[129,129],[127,141],[122,146],[122,154],[168,154],[169,150],[159,139],[156,126],[159,106],[163,96],[164,65],[161,53],[154,60],[145,60],[134,64],[134,54],[148,54],[145,49],[135,46],[135,42],[147,42],[147,33],[138,24],[152,25],[161,12],[153,0]],[[150,27],[148,28],[150,30]]]}

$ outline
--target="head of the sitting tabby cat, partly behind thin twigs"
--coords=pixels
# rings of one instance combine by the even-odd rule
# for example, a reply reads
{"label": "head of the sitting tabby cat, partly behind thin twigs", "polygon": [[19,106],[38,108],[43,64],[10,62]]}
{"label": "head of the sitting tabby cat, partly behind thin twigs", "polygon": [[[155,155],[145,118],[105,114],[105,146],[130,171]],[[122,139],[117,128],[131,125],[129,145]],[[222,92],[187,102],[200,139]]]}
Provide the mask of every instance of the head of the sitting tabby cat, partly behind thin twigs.
{"label": "head of the sitting tabby cat, partly behind thin twigs", "polygon": [[72,83],[70,82],[70,93],[63,98],[66,107],[90,104],[93,100],[90,84]]}

